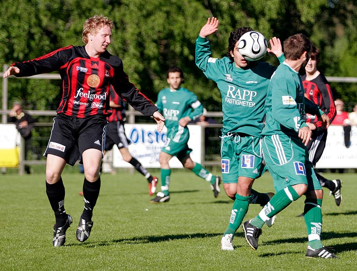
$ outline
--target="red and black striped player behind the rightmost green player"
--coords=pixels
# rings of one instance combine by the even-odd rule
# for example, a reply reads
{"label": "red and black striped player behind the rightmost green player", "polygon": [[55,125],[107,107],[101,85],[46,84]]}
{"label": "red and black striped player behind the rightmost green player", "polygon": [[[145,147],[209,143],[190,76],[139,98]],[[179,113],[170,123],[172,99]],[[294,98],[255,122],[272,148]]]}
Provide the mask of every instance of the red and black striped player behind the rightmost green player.
{"label": "red and black striped player behind the rightmost green player", "polygon": [[[328,116],[330,122],[333,122],[336,116],[334,97],[326,78],[317,70],[317,64],[319,62],[320,51],[316,46],[313,46],[310,60],[305,66],[306,74],[301,77],[302,85],[305,91],[305,97],[317,104]],[[322,122],[318,120],[317,116],[307,114],[306,118],[307,125],[313,132],[311,140],[307,145],[309,159],[315,166],[325,149],[327,128],[322,125]],[[337,206],[340,206],[342,201],[341,180],[327,180],[318,174],[316,170],[315,173],[321,186],[327,187],[331,191],[331,194],[335,196]]]}

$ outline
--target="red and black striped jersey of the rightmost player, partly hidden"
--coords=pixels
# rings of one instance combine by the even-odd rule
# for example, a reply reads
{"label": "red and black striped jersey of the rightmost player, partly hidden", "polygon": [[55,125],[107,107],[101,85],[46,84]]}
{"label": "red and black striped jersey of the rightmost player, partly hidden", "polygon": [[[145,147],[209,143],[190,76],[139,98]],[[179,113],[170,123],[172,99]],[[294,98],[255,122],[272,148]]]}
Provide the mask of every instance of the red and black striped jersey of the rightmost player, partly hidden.
{"label": "red and black striped jersey of the rightmost player, partly hidden", "polygon": [[[306,80],[306,75],[303,75],[301,76],[301,81],[305,97],[307,97],[314,104],[318,105],[328,116],[331,123],[336,116],[336,107],[334,96],[327,79],[320,73],[318,77],[311,81]],[[322,122],[317,118],[317,116],[307,114],[306,121],[315,124],[317,129],[322,127]]]}

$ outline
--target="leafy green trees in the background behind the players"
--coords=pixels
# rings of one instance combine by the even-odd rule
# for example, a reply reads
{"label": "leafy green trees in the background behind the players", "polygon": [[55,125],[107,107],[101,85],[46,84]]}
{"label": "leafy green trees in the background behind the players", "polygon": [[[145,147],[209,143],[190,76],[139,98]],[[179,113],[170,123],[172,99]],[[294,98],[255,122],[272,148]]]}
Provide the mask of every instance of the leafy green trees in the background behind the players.
{"label": "leafy green trees in the background behind the players", "polygon": [[[83,45],[83,22],[94,14],[114,21],[108,51],[123,60],[130,81],[153,102],[167,87],[167,69],[180,66],[184,86],[209,111],[221,110],[216,85],[194,62],[195,40],[211,16],[220,20],[218,32],[209,37],[213,57],[226,56],[228,37],[237,27],[249,26],[267,39],[276,36],[282,42],[303,33],[320,48],[318,69],[325,76],[357,76],[354,0],[2,0],[0,63],[10,65],[69,44]],[[278,64],[268,55],[264,61]],[[335,98],[357,103],[357,84],[330,85]],[[22,101],[24,109],[55,110],[61,94],[59,80],[10,79],[8,107]]]}

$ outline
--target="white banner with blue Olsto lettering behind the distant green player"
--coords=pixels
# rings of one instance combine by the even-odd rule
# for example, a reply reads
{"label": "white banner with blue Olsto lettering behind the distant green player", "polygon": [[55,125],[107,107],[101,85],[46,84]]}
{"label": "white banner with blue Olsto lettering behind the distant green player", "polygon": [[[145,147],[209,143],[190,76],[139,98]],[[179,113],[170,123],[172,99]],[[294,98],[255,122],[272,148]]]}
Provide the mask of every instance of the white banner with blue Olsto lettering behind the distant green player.
{"label": "white banner with blue Olsto lettering behind the distant green player", "polygon": [[[201,134],[200,125],[188,125],[190,139],[188,146],[193,150],[190,154],[191,159],[201,163]],[[166,127],[159,133],[155,124],[125,124],[125,135],[131,141],[129,145],[130,154],[136,158],[144,167],[160,168],[159,154],[166,143]],[[182,168],[181,162],[173,157],[169,161],[171,168]],[[113,166],[132,167],[125,162],[116,147],[113,147]]]}

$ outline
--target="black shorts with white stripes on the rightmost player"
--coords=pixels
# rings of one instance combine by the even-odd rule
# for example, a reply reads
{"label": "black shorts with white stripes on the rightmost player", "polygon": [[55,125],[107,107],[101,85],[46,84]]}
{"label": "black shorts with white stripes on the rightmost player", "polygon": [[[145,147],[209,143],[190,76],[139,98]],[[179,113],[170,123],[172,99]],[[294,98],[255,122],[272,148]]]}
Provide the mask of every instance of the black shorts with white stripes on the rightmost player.
{"label": "black shorts with white stripes on the rightmost player", "polygon": [[317,131],[313,130],[311,135],[311,140],[309,141],[307,147],[309,150],[309,160],[315,166],[320,160],[323,150],[326,146],[327,130]]}

